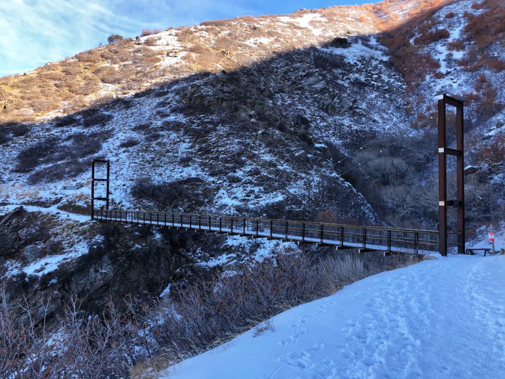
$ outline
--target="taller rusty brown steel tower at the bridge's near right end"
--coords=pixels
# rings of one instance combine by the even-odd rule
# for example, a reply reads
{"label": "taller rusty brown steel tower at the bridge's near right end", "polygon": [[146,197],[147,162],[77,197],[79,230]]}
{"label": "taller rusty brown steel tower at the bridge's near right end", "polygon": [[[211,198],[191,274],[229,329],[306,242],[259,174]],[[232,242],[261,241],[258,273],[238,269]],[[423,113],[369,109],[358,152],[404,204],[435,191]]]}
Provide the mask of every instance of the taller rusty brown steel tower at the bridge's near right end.
{"label": "taller rusty brown steel tower at the bridge's near right end", "polygon": [[[446,146],[446,106],[456,108],[456,149]],[[439,252],[447,256],[447,207],[457,208],[458,254],[465,252],[463,101],[438,95],[438,219]],[[456,199],[447,200],[447,155],[456,156]]]}

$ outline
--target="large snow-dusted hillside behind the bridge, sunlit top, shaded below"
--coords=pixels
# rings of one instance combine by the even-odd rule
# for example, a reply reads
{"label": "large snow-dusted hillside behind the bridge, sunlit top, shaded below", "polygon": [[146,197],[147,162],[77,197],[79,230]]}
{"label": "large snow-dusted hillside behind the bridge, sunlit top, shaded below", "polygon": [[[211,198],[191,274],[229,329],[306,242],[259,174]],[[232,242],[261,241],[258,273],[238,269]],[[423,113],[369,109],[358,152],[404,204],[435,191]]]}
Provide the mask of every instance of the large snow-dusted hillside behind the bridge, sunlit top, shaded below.
{"label": "large snow-dusted hillside behind the bridge, sunlit top, shaded below", "polygon": [[63,217],[90,214],[93,158],[111,161],[112,208],[434,229],[440,91],[468,100],[469,235],[498,229],[502,8],[388,0],[216,20],[0,78],[2,280],[98,309],[269,254],[258,241]]}

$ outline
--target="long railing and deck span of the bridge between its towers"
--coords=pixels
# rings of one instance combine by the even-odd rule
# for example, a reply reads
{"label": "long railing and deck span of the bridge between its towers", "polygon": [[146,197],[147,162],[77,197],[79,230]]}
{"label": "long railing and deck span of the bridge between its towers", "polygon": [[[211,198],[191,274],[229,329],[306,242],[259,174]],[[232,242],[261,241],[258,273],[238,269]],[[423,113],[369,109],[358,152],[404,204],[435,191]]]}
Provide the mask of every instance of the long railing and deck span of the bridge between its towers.
{"label": "long railing and deck span of the bridge between its towers", "polygon": [[[270,238],[321,246],[385,251],[438,251],[438,231],[264,219],[177,212],[93,210],[96,220],[164,225],[251,238]],[[457,233],[448,233],[449,246],[458,246]]]}

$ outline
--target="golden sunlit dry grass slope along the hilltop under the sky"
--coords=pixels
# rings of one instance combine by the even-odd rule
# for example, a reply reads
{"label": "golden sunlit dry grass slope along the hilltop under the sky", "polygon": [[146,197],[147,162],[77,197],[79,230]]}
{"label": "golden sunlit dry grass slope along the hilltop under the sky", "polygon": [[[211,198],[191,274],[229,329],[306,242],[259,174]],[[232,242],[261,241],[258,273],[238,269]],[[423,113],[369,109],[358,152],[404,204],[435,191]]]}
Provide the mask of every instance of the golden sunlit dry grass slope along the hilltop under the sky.
{"label": "golden sunlit dry grass slope along the hilltop under the sky", "polygon": [[[173,46],[161,44],[162,40],[157,35],[159,30],[145,29],[142,35],[151,37],[146,38],[143,45],[140,40],[124,39],[48,64],[26,75],[0,78],[0,115],[6,121],[33,120],[60,109],[63,104],[65,112],[69,112],[91,102],[105,101],[110,94],[97,99],[98,91],[103,88],[100,83],[112,85],[114,93],[129,93],[153,82],[167,80],[167,75],[176,79],[195,72],[229,71],[282,52],[327,43],[334,37],[346,36],[346,31],[362,28],[373,32],[377,27],[391,32],[384,35],[382,42],[390,48],[396,68],[406,73],[409,82],[415,82],[422,80],[426,73],[436,72],[437,64],[406,43],[405,36],[415,25],[419,25],[425,38],[418,40],[419,43],[444,38],[443,32],[429,34],[428,29],[432,25],[423,24],[423,20],[448,1],[422,0],[411,9],[403,9],[411,3],[403,5],[402,2],[386,0],[374,5],[327,7],[286,15],[296,19],[317,12],[328,22],[314,21],[313,26],[326,28],[330,34],[333,32],[331,37],[322,36],[325,33],[316,36],[310,29],[296,23],[288,22],[279,28],[278,16],[275,15],[207,21],[200,26],[170,31],[180,44],[175,53]],[[399,16],[401,12],[405,12],[403,18]],[[474,30],[475,26],[469,26],[469,29]],[[475,33],[477,36],[482,34]],[[254,38],[268,38],[269,41],[258,45],[245,43]],[[177,55],[178,52],[188,54]],[[158,66],[167,56],[181,57],[180,63],[168,71]],[[501,68],[497,62],[489,62],[495,70]]]}

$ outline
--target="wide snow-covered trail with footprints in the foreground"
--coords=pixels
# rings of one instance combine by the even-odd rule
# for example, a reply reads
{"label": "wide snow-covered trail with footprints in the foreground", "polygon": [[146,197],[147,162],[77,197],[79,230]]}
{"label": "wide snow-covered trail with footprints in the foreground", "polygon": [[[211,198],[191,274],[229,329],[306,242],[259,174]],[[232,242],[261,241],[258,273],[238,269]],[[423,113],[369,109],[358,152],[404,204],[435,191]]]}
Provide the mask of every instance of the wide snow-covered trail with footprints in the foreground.
{"label": "wide snow-covered trail with footprints in the foreground", "polygon": [[170,378],[505,377],[505,257],[384,272],[187,359]]}

